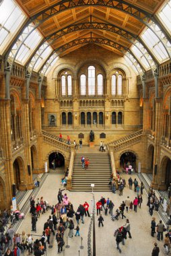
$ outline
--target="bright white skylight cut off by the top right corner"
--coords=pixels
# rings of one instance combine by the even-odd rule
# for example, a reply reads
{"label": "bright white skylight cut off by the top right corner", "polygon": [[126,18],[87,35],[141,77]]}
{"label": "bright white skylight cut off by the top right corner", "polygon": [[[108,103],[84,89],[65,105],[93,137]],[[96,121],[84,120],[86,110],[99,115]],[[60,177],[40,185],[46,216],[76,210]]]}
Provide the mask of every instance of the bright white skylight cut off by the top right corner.
{"label": "bright white skylight cut off by the top right corner", "polygon": [[171,34],[171,1],[168,1],[163,9],[158,13],[160,21],[166,26],[166,29]]}

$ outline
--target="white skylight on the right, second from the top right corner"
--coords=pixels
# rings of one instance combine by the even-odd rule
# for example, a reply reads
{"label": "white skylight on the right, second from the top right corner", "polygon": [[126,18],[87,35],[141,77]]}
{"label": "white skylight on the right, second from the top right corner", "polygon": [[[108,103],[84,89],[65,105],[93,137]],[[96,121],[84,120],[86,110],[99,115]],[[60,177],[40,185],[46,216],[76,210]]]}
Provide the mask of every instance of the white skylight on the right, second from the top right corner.
{"label": "white skylight on the right, second from the top right corner", "polygon": [[[158,28],[158,26],[156,26],[156,28]],[[160,29],[158,28],[158,30]],[[145,32],[141,34],[141,38],[143,38],[145,44],[147,44],[153,55],[156,56],[156,59],[158,59],[160,63],[168,59],[168,53],[166,52],[164,45],[162,44],[158,36],[153,33],[153,31],[147,28],[147,30],[145,30]]]}

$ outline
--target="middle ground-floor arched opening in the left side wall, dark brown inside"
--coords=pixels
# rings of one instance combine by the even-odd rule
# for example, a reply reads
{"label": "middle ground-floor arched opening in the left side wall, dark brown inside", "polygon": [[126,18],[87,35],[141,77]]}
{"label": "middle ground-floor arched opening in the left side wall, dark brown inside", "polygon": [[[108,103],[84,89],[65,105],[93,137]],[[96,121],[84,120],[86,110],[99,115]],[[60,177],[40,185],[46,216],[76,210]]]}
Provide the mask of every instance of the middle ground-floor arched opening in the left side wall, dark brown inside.
{"label": "middle ground-floor arched opening in the left side wall, dark brown inside", "polygon": [[24,168],[22,164],[22,160],[20,158],[16,158],[13,162],[13,178],[14,183],[16,185],[16,189],[19,189],[20,185],[24,182],[22,181],[24,175]]}

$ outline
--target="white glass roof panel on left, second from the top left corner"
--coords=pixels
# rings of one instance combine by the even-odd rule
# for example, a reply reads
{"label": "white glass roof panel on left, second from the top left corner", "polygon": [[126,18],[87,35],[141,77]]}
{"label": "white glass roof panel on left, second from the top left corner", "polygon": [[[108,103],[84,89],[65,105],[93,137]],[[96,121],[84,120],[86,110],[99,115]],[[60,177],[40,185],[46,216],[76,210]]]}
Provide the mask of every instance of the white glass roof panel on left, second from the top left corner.
{"label": "white glass roof panel on left, second from the top left corner", "polygon": [[[22,36],[21,36],[22,40]],[[38,30],[34,30],[28,38],[24,41],[24,44],[22,44],[20,50],[18,51],[18,55],[15,58],[15,61],[19,61],[24,65],[32,54],[32,52],[35,50],[38,43],[42,40],[42,36],[40,36]]]}

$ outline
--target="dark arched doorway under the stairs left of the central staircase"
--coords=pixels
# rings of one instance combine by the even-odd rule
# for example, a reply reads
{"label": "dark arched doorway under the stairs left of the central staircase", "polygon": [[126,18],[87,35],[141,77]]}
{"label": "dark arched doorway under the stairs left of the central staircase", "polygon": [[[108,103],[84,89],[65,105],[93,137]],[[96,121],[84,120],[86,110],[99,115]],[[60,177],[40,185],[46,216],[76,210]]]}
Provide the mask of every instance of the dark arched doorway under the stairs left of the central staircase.
{"label": "dark arched doorway under the stairs left of the central staircase", "polygon": [[53,152],[48,156],[48,166],[50,169],[64,168],[65,158],[61,153]]}

